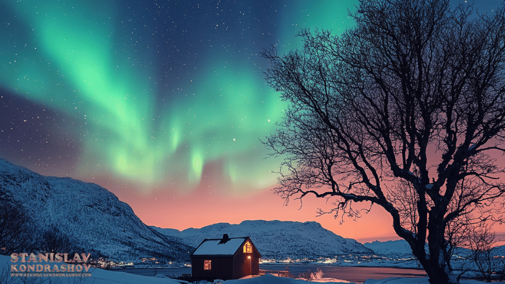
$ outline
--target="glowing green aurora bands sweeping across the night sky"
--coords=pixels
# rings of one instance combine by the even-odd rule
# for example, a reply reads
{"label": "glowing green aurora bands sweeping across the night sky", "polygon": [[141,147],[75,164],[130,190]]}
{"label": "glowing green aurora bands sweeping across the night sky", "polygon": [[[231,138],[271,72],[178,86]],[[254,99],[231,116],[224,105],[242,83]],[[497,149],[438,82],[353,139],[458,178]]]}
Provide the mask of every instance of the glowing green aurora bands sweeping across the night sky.
{"label": "glowing green aurora bands sweeping across the night sky", "polygon": [[219,46],[227,50],[209,46],[191,72],[162,87],[159,34],[145,25],[151,14],[137,15],[144,25],[135,26],[118,12],[123,2],[7,1],[0,85],[83,125],[77,175],[108,172],[148,193],[168,183],[194,188],[214,161],[234,191],[271,186],[269,171],[279,163],[264,160],[259,138],[275,131],[286,106],[265,84],[261,48],[244,50],[297,48],[294,35],[307,26],[343,30],[356,5],[282,3],[270,27],[275,42],[252,44],[251,36],[236,44],[223,36]]}

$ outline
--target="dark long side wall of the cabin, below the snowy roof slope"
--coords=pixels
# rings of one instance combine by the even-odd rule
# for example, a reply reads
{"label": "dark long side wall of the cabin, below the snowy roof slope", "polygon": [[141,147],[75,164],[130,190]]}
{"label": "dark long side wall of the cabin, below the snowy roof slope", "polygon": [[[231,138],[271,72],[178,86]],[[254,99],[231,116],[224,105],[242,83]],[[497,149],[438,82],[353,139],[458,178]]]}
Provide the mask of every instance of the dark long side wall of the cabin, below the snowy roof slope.
{"label": "dark long side wall of the cabin, below the snowy roof slope", "polygon": [[[211,260],[211,270],[204,270],[204,260]],[[229,280],[233,278],[232,256],[193,256],[191,274],[193,277]]]}

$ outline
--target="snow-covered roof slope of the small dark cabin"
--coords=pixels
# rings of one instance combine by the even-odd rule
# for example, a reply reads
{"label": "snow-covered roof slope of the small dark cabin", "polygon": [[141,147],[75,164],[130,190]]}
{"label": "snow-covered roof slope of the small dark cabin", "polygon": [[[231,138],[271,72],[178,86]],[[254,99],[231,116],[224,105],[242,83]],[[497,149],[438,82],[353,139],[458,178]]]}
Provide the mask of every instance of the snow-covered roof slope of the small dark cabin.
{"label": "snow-covered roof slope of the small dark cabin", "polygon": [[192,255],[234,255],[248,239],[247,236],[228,239],[205,239]]}

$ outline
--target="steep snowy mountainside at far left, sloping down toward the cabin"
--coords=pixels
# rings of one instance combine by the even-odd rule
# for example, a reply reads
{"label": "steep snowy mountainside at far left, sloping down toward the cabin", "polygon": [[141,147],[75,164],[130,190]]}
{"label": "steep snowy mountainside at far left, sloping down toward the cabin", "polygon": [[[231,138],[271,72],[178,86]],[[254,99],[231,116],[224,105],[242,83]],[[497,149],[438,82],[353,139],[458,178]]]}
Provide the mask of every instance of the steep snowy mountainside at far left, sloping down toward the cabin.
{"label": "steep snowy mountainside at far left, sloping down toward the cabin", "polygon": [[39,228],[57,225],[84,248],[112,260],[182,260],[193,250],[142,223],[128,204],[101,186],[39,175],[3,159],[0,200],[22,206]]}

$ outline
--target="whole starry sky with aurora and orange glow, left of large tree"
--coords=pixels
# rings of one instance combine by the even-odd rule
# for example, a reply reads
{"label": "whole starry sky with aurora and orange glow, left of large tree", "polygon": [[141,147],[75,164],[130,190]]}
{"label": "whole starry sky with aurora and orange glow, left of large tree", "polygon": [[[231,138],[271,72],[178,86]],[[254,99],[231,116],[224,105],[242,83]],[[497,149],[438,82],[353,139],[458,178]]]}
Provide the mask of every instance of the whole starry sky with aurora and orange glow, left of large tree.
{"label": "whole starry sky with aurora and orange glow, left of large tree", "polygon": [[283,206],[271,192],[279,160],[260,141],[286,107],[260,53],[300,48],[302,28],[342,32],[357,4],[4,0],[0,158],[102,185],[148,225],[318,221],[346,238],[396,239],[379,209],[339,225],[316,217],[324,200]]}

